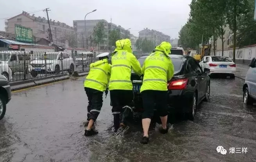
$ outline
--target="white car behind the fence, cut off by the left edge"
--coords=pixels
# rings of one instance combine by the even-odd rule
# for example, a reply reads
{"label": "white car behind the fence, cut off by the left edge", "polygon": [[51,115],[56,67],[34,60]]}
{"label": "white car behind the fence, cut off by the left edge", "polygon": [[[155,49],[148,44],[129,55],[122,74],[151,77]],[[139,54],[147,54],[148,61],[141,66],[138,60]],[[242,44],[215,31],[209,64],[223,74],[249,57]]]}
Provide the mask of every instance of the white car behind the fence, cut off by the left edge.
{"label": "white car behind the fence, cut off by the left edge", "polygon": [[12,69],[9,67],[8,59],[9,57],[3,57],[4,55],[0,55],[0,74],[2,74],[8,81],[13,79],[12,77]]}

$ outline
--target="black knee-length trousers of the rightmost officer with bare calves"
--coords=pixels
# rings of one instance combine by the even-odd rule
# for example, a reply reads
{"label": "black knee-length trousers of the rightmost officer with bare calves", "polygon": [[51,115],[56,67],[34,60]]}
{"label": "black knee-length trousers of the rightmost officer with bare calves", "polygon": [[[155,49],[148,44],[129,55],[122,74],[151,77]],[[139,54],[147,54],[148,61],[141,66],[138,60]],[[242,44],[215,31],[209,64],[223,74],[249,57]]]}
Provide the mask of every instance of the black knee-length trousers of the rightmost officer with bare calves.
{"label": "black knee-length trousers of the rightmost officer with bare calves", "polygon": [[158,90],[145,90],[141,92],[143,100],[142,119],[152,118],[154,116],[154,108],[156,109],[159,116],[166,116],[167,112],[167,91]]}

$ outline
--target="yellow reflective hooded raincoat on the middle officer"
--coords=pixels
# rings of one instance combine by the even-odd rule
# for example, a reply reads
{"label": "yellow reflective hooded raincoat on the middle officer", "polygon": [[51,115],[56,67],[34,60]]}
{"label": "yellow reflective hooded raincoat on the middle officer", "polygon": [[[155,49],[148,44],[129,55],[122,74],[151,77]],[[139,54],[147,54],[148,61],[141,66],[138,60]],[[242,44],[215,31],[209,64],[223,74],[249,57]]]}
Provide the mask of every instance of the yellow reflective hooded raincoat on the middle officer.
{"label": "yellow reflective hooded raincoat on the middle officer", "polygon": [[109,90],[132,90],[131,70],[141,76],[140,62],[132,54],[131,40],[116,41],[116,49],[111,58],[112,69]]}

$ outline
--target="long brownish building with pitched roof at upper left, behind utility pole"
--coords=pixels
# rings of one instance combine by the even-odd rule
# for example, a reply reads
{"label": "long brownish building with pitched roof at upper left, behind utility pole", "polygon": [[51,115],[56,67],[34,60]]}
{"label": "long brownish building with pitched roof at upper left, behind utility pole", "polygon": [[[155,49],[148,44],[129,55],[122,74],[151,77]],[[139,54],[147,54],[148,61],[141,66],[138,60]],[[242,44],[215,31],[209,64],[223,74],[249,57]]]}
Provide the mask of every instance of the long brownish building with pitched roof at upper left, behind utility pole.
{"label": "long brownish building with pitched roof at upper left, behind utility pole", "polygon": [[[33,35],[36,37],[35,41],[40,38],[45,38],[50,40],[50,32],[48,21],[45,17],[38,16],[35,14],[30,15],[29,13],[23,11],[10,19],[5,20],[5,31],[9,33],[15,33],[15,24],[31,28]],[[52,30],[53,43],[58,46],[65,46],[67,39],[73,39],[73,27],[68,26],[65,23],[55,21],[50,19],[50,26]]]}

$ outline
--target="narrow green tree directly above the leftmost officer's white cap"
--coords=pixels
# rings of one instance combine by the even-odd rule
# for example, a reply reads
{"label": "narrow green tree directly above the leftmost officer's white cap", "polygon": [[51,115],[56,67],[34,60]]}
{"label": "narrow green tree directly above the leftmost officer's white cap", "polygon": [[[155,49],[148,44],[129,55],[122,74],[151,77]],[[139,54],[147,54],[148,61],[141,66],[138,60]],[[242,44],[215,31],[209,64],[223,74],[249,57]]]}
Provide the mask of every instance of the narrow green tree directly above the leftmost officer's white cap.
{"label": "narrow green tree directly above the leftmost officer's white cap", "polygon": [[98,44],[98,51],[100,51],[100,43],[102,43],[106,37],[103,22],[98,22],[97,25],[94,26],[92,36],[95,43]]}

